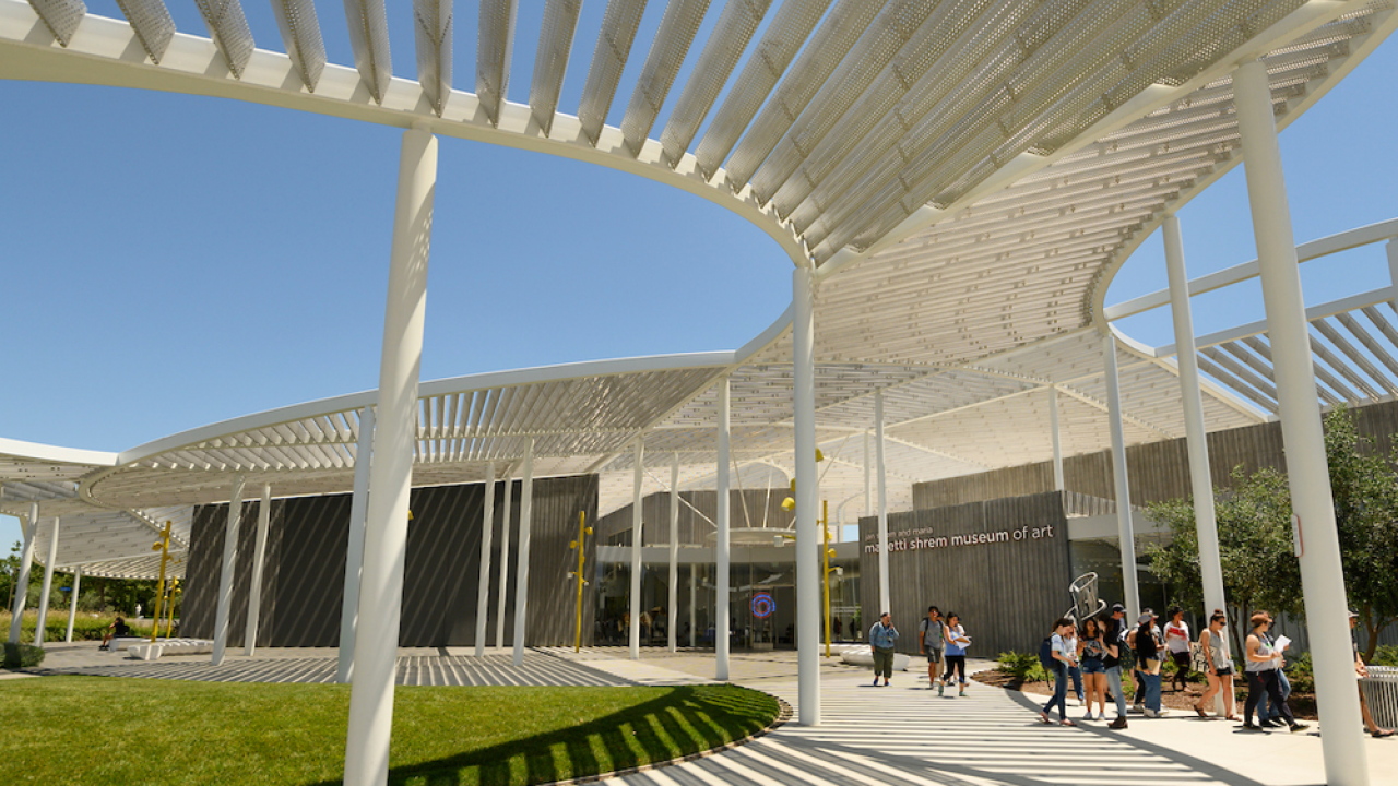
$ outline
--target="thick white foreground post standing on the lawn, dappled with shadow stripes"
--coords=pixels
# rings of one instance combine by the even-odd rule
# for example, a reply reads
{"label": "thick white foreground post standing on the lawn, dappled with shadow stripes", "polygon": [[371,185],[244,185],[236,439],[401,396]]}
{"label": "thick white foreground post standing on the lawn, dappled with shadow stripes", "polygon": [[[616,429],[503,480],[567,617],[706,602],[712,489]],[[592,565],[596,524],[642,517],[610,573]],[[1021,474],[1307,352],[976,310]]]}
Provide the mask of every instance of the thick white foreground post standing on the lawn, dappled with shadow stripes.
{"label": "thick white foreground post standing on the lawn, dappled with shadow stripes", "polygon": [[363,530],[358,622],[358,634],[363,635],[355,635],[354,642],[354,689],[350,692],[350,729],[345,736],[348,786],[389,780],[436,161],[436,137],[422,126],[404,131]]}

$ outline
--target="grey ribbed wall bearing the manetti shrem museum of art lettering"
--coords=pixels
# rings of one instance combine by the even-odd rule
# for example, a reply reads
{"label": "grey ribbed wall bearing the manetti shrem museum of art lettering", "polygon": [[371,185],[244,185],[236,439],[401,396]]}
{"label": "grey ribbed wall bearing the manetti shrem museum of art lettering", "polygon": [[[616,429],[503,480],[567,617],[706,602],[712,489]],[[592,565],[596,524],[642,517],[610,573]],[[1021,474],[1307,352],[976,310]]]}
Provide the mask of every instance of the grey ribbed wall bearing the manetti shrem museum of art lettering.
{"label": "grey ribbed wall bearing the manetti shrem museum of art lettering", "polygon": [[[1001,652],[1037,652],[1055,617],[1071,606],[1068,524],[1062,495],[1035,494],[889,513],[889,592],[898,652],[917,653],[917,624],[927,607],[960,614],[967,650],[994,659]],[[960,536],[987,534],[1000,543],[958,544]],[[878,517],[860,519],[861,628],[884,610],[879,603]],[[914,538],[921,541],[914,544]],[[928,538],[946,538],[927,545]],[[899,548],[905,543],[906,547]],[[934,543],[941,543],[934,541]],[[914,547],[918,545],[918,547]],[[872,547],[872,548],[871,548]]]}

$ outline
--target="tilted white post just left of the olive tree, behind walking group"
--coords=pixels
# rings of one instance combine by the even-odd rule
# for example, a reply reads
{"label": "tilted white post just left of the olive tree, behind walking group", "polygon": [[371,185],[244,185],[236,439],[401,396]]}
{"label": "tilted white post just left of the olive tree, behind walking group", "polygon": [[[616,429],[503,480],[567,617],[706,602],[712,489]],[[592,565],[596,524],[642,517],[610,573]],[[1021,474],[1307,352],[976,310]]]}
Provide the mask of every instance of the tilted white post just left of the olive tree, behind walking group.
{"label": "tilted white post just left of the olive tree, behind walking group", "polygon": [[1208,620],[1215,608],[1227,613],[1223,599],[1223,564],[1219,559],[1219,527],[1213,516],[1213,473],[1209,469],[1209,443],[1204,431],[1204,397],[1199,393],[1199,361],[1194,350],[1194,313],[1190,308],[1190,277],[1184,270],[1180,220],[1173,214],[1166,215],[1162,229],[1165,267],[1170,276],[1170,313],[1174,316],[1184,435],[1190,450],[1190,491],[1194,492],[1194,524],[1199,538],[1204,618]]}

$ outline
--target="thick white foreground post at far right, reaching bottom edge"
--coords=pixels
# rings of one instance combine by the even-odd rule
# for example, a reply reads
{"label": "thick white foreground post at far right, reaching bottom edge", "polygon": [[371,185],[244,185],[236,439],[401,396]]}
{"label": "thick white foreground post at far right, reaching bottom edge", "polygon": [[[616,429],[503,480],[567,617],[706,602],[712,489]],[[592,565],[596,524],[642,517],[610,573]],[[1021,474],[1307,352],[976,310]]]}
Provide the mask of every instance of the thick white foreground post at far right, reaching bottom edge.
{"label": "thick white foreground post at far right, reaching bottom edge", "polygon": [[1267,309],[1267,337],[1272,344],[1282,445],[1292,491],[1292,526],[1316,671],[1316,701],[1325,729],[1321,736],[1325,782],[1331,786],[1367,786],[1369,762],[1359,694],[1355,691],[1355,660],[1348,646],[1349,606],[1335,530],[1335,502],[1267,66],[1257,60],[1240,66],[1233,71],[1233,90],[1262,305]]}

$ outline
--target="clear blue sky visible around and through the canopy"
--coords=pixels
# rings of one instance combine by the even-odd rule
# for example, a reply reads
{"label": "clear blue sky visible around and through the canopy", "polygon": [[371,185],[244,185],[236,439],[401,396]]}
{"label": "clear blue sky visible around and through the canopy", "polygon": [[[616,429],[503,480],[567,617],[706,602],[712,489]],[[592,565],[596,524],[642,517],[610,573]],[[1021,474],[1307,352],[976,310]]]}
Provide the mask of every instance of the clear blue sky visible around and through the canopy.
{"label": "clear blue sky visible around and through the canopy", "polygon": [[[520,6],[509,97],[526,102],[542,4]],[[576,112],[604,6],[583,7],[565,112]],[[612,124],[665,4],[649,6]],[[712,4],[696,41],[721,6]],[[88,8],[120,18],[115,0]],[[179,29],[204,35],[193,3],[171,11]],[[319,11],[330,60],[351,63],[340,4]],[[267,4],[247,13],[259,45],[280,50]],[[411,77],[410,6],[390,0],[389,14],[394,71]],[[456,24],[456,84],[474,90],[474,10]],[[1392,74],[1390,41],[1282,134],[1299,242],[1398,217]],[[682,83],[684,73],[671,105]],[[0,436],[122,450],[376,385],[400,131],[82,85],[0,81],[0,103],[10,369]],[[1180,215],[1191,276],[1253,259],[1241,168]],[[1307,302],[1387,283],[1380,246],[1332,260],[1303,267]],[[1165,281],[1153,236],[1109,302]],[[730,350],[788,298],[790,262],[717,206],[593,165],[440,143],[424,379]],[[1255,291],[1223,298],[1197,301],[1199,333],[1262,316]],[[1163,313],[1125,329],[1152,344],[1172,340]],[[18,537],[0,517],[0,544]]]}

